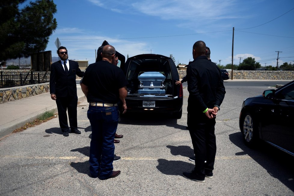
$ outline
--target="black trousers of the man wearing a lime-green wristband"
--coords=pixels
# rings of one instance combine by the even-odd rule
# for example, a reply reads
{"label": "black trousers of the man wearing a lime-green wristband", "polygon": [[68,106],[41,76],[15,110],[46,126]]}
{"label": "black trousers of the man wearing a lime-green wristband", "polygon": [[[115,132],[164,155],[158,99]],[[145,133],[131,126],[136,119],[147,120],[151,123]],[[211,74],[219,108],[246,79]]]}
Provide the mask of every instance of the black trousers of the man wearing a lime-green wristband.
{"label": "black trousers of the man wearing a lime-green wristband", "polygon": [[[189,112],[187,124],[195,153],[194,173],[205,177],[214,169],[216,156],[215,118],[209,119],[204,113]],[[206,162],[205,162],[206,161]]]}

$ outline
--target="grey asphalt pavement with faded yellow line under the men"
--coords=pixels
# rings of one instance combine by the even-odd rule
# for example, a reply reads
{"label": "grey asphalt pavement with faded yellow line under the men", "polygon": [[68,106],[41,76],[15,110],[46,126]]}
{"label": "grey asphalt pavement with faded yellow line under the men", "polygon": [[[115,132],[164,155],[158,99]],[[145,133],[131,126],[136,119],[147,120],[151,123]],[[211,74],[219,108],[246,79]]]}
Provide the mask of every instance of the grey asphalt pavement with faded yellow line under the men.
{"label": "grey asphalt pavement with faded yellow line under the men", "polygon": [[266,143],[249,149],[238,127],[244,98],[267,86],[229,86],[216,123],[214,177],[185,179],[194,162],[186,130],[188,91],[184,88],[182,119],[165,115],[128,115],[121,119],[115,144],[122,157],[116,178],[89,175],[90,123],[87,101],[78,105],[80,135],[63,137],[58,119],[14,133],[0,141],[0,195],[293,195],[294,158]]}

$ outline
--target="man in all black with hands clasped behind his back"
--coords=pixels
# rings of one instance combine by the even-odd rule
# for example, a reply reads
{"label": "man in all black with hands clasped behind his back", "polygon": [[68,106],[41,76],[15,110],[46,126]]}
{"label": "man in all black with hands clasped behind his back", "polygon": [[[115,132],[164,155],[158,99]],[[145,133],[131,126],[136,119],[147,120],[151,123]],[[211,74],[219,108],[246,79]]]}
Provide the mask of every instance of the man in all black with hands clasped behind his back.
{"label": "man in all black with hands clasped behind his back", "polygon": [[183,176],[198,182],[205,182],[205,177],[213,177],[216,155],[215,117],[225,97],[221,71],[207,59],[206,53],[205,43],[197,41],[193,45],[194,61],[187,68],[187,124],[194,147],[195,168],[191,173],[184,172]]}

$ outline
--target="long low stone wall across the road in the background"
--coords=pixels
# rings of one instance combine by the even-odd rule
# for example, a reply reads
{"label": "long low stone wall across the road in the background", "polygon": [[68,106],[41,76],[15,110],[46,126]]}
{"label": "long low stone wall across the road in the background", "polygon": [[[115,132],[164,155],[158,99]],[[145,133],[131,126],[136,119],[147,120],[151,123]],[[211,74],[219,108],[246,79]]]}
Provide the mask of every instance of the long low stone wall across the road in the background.
{"label": "long low stone wall across the road in the background", "polygon": [[[231,80],[231,70],[227,69]],[[178,70],[182,79],[186,75],[186,70]],[[233,70],[233,80],[294,80],[294,71],[244,71]]]}

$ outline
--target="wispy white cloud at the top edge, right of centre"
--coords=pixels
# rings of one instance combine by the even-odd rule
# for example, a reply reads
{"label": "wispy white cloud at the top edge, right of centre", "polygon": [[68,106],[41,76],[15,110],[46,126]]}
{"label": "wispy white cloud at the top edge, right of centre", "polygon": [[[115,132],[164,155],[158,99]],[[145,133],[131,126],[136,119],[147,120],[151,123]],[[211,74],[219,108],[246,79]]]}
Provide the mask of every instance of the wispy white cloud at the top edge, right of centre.
{"label": "wispy white cloud at the top edge, right of centre", "polygon": [[219,20],[224,18],[235,18],[232,14],[232,6],[235,0],[222,1],[167,1],[167,0],[145,0],[131,4],[136,10],[151,16],[158,16],[165,20],[184,19],[191,21]]}

